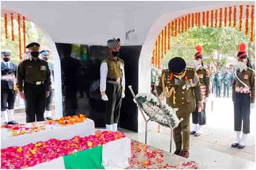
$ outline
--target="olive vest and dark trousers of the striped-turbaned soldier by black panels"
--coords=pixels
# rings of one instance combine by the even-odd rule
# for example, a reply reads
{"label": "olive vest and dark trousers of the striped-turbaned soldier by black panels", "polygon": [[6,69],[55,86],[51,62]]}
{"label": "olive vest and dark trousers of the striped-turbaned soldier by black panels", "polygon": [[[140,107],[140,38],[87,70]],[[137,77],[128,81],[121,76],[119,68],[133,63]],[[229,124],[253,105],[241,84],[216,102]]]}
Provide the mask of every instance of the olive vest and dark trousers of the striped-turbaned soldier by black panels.
{"label": "olive vest and dark trousers of the striped-turbaned soldier by black panels", "polygon": [[115,57],[108,57],[102,61],[108,66],[106,78],[106,91],[101,94],[108,96],[106,102],[106,124],[112,125],[118,123],[120,109],[122,104],[122,92],[124,92],[124,84],[122,81],[124,74],[124,61]]}

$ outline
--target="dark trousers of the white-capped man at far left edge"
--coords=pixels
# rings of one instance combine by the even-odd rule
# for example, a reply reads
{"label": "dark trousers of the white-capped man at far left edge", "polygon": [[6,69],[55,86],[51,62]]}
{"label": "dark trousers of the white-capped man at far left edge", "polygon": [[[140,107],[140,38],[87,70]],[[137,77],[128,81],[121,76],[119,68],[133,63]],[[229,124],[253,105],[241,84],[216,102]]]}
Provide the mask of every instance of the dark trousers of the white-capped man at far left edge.
{"label": "dark trousers of the white-capped man at far left edge", "polygon": [[16,91],[13,89],[1,90],[1,111],[14,109],[16,94]]}

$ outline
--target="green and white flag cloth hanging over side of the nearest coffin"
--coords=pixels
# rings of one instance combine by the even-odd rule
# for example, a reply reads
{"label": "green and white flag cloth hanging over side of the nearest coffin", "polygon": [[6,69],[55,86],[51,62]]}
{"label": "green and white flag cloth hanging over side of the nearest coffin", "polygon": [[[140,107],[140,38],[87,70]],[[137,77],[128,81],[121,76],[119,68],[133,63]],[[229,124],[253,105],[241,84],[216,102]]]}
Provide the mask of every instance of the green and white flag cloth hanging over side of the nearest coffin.
{"label": "green and white flag cloth hanging over side of the nearest coffin", "polygon": [[129,166],[131,142],[127,137],[29,167],[33,169],[121,169]]}

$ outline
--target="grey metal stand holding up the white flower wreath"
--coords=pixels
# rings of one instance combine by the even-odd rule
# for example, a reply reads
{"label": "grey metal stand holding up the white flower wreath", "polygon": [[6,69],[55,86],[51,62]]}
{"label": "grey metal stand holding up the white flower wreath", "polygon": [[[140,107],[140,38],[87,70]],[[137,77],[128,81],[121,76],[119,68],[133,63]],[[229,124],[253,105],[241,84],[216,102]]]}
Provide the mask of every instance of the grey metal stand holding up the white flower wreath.
{"label": "grey metal stand holding up the white flower wreath", "polygon": [[[144,113],[144,112],[145,112],[145,109],[140,106],[139,101],[137,100],[136,95],[134,94],[134,91],[132,90],[132,86],[128,86],[128,87],[129,87],[129,89],[130,89],[130,91],[131,91],[131,93],[132,93],[132,96],[134,97],[134,99],[135,99],[135,101],[136,101],[136,103],[137,103],[137,107],[140,109],[140,113],[142,114],[143,119],[144,119],[144,121],[145,121],[145,123],[146,123],[146,128],[145,128],[145,130],[146,130],[146,133],[145,133],[145,144],[147,144],[148,121],[150,121],[150,120],[152,119],[152,117],[150,117],[149,119],[146,119],[146,116],[145,116],[145,113]],[[172,125],[171,125],[171,123],[170,123],[170,120],[169,120],[169,118],[168,118],[168,116],[167,116],[167,114],[166,114],[166,109],[164,109],[164,106],[162,105],[162,102],[160,101],[160,98],[159,98],[159,96],[158,96],[156,90],[154,90],[154,94],[155,94],[156,98],[158,99],[158,102],[159,102],[161,108],[158,109],[158,110],[152,109],[152,111],[154,112],[154,115],[158,114],[159,111],[161,111],[161,110],[162,110],[163,113],[164,113],[164,117],[165,117],[166,121],[168,122],[168,126],[169,126],[169,128],[170,128],[170,153],[171,153],[171,151],[172,151],[172,135],[173,135],[173,128],[172,128]],[[153,116],[154,116],[154,115],[153,115]],[[179,123],[180,123],[182,120],[183,120],[183,118],[181,118],[181,119],[179,120]]]}

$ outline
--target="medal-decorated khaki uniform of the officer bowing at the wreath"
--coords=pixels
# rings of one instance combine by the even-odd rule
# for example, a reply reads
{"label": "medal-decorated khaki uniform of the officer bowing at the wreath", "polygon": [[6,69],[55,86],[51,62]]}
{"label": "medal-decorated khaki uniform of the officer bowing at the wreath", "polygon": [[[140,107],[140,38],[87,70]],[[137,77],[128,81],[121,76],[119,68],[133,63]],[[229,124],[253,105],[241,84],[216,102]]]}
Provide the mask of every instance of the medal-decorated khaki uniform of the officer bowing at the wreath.
{"label": "medal-decorated khaki uniform of the officer bowing at the wreath", "polygon": [[175,90],[175,97],[172,94],[166,98],[166,103],[173,108],[178,108],[176,115],[179,119],[183,118],[178,127],[174,128],[176,149],[182,149],[183,145],[183,150],[188,151],[190,146],[190,113],[196,109],[196,100],[202,101],[200,80],[194,68],[186,68],[186,76],[180,80],[172,76],[169,70],[163,70],[160,83],[156,87],[158,95],[165,88],[163,85],[168,90]]}

